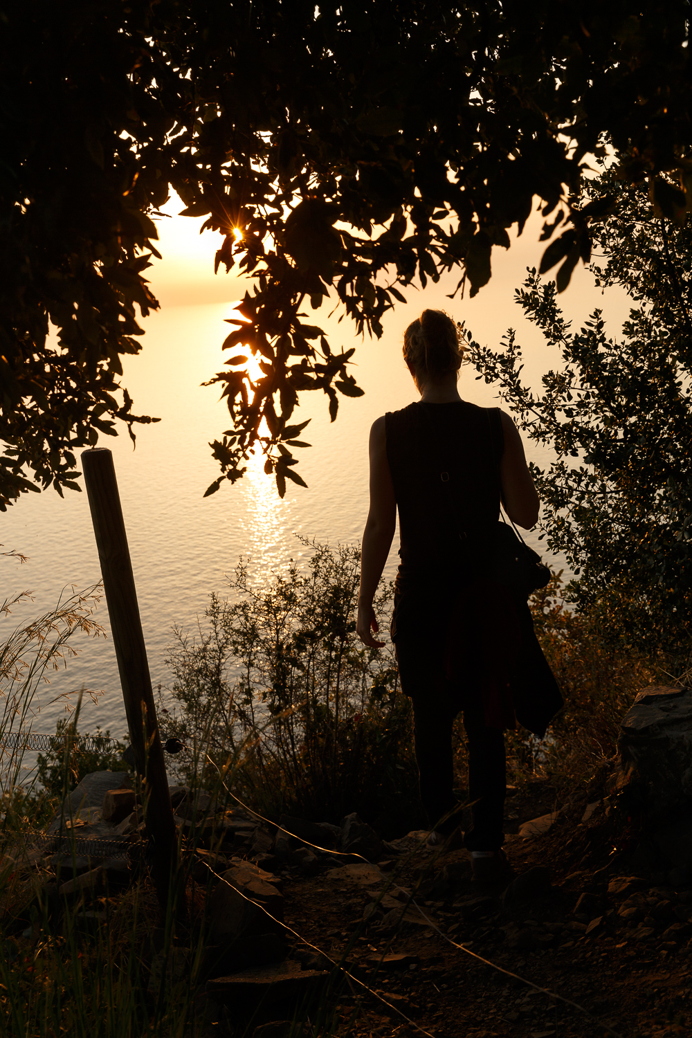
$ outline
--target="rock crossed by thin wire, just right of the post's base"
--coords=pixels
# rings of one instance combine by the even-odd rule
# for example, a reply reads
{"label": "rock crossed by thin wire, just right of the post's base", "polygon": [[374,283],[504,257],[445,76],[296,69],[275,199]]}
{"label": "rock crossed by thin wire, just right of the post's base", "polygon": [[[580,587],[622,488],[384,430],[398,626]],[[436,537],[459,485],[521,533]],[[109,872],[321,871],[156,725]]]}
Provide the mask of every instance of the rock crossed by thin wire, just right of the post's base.
{"label": "rock crossed by thin wire, just right of the post's base", "polygon": [[225,882],[218,883],[209,905],[212,944],[233,940],[250,931],[280,929],[275,920],[283,921],[283,895],[269,882],[274,879],[270,873],[243,862],[224,872],[222,878]]}

